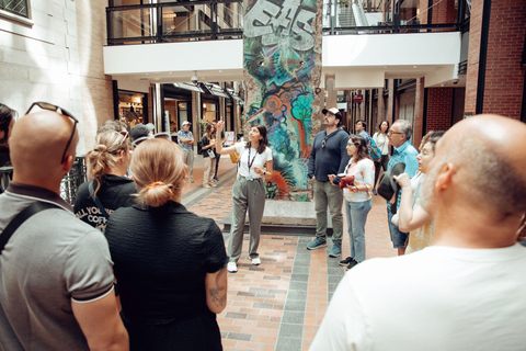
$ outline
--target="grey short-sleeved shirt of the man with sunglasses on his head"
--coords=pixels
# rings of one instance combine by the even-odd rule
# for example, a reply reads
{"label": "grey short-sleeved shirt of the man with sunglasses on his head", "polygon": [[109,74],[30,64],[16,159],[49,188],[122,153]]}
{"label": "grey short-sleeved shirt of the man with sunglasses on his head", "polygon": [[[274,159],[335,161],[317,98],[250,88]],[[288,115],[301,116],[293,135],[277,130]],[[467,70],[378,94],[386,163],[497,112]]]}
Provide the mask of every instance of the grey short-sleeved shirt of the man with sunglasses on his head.
{"label": "grey short-sleeved shirt of the man with sunglasses on his head", "polygon": [[0,349],[89,350],[71,301],[91,302],[112,292],[107,241],[56,193],[15,183],[0,195],[0,230],[36,200],[68,211],[33,215],[0,254]]}

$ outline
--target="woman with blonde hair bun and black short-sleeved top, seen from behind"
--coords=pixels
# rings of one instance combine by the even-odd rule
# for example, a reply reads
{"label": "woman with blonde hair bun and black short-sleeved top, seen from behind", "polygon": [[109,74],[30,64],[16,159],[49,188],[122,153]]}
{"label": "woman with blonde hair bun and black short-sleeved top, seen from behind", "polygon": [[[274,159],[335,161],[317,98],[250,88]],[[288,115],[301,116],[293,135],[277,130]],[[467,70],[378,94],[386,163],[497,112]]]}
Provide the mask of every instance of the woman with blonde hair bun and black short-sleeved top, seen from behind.
{"label": "woman with blonde hair bun and black short-sleeved top, seen from behind", "polygon": [[181,204],[183,157],[175,143],[141,143],[130,165],[138,204],[106,227],[130,350],[222,350],[228,257],[216,223]]}

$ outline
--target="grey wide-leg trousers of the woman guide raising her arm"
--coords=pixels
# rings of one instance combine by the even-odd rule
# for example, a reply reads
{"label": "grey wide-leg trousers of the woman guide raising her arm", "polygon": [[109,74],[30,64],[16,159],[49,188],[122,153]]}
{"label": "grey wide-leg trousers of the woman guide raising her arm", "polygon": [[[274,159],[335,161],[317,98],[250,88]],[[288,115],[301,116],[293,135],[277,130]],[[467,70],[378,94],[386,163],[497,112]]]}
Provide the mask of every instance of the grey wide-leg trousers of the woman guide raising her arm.
{"label": "grey wide-leg trousers of the woman guide raising her arm", "polygon": [[253,259],[260,256],[258,247],[260,246],[261,219],[265,210],[265,185],[261,178],[247,180],[244,177],[238,177],[233,184],[232,227],[228,245],[230,262],[237,262],[241,257],[247,210],[249,210],[250,227],[249,256]]}

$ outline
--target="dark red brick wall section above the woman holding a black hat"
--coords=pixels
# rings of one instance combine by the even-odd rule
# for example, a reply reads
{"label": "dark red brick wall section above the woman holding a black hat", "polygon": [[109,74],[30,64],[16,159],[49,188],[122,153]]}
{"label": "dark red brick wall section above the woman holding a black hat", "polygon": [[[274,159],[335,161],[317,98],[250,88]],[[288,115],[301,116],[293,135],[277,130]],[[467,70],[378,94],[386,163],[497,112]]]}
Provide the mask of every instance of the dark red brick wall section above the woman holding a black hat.
{"label": "dark red brick wall section above the woman holding a black hat", "polygon": [[425,133],[447,131],[451,126],[453,92],[454,88],[428,88],[427,128]]}

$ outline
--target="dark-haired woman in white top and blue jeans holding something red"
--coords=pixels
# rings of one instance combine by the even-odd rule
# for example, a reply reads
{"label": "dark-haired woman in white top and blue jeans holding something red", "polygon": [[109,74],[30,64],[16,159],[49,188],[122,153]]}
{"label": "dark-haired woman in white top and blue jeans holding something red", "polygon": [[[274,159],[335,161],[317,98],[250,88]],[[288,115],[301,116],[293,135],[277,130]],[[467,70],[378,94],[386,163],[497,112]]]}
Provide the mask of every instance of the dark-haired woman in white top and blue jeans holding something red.
{"label": "dark-haired woman in white top and blue jeans holding something red", "polygon": [[351,160],[345,168],[345,177],[354,176],[354,184],[347,184],[343,190],[351,256],[340,261],[340,265],[352,269],[365,260],[365,223],[373,206],[375,165],[369,157],[367,143],[359,135],[352,134],[350,136],[347,154],[351,156]]}

